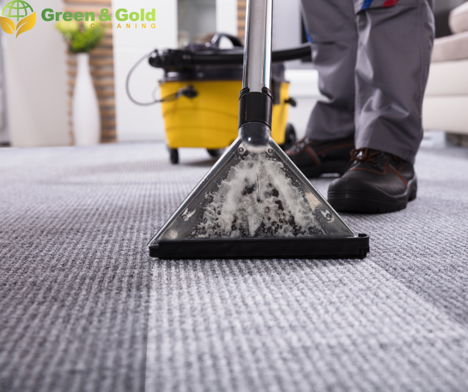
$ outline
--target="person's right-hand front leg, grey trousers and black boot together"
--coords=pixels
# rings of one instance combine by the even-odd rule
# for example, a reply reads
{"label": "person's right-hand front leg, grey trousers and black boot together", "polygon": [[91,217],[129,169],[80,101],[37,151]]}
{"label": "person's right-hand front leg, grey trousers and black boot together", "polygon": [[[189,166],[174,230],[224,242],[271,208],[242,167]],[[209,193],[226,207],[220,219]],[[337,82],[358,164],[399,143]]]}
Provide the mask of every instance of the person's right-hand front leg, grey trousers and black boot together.
{"label": "person's right-hand front leg, grey trousers and black boot together", "polygon": [[[357,1],[364,8],[357,7],[357,149],[328,190],[338,211],[397,211],[416,197],[413,163],[422,138],[434,17],[427,0],[397,1]],[[393,6],[373,7],[379,4]]]}

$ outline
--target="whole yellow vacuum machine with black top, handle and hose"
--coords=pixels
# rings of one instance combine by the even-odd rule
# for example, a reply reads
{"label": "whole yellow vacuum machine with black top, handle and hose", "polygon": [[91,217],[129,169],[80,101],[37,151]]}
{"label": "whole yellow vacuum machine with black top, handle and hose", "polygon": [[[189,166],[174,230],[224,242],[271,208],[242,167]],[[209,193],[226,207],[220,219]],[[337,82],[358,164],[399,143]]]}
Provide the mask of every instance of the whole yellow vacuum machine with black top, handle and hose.
{"label": "whole yellow vacuum machine with black top, handle and hose", "polygon": [[[223,37],[231,40],[234,49],[219,49]],[[296,142],[294,127],[287,122],[288,106],[296,102],[289,97],[282,61],[307,56],[310,46],[305,44],[277,52],[278,59],[272,65],[271,137],[283,149]],[[217,33],[211,42],[186,44],[178,50],[155,50],[148,57],[150,65],[165,71],[159,82],[162,98],[154,102],[162,103],[171,162],[178,163],[180,147],[202,147],[211,156],[220,156],[237,137],[242,43],[237,37]],[[274,57],[275,52],[273,61]]]}

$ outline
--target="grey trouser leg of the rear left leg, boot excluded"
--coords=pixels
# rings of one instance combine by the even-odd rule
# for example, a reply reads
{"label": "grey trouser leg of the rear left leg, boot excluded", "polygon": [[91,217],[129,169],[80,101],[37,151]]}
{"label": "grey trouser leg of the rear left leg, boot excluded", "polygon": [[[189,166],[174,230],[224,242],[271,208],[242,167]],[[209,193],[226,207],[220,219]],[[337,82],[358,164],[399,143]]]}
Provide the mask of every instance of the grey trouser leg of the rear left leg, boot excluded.
{"label": "grey trouser leg of the rear left leg, boot excluded", "polygon": [[302,0],[304,24],[312,39],[319,89],[328,101],[312,110],[306,135],[333,140],[354,134],[354,66],[357,29],[351,0]]}

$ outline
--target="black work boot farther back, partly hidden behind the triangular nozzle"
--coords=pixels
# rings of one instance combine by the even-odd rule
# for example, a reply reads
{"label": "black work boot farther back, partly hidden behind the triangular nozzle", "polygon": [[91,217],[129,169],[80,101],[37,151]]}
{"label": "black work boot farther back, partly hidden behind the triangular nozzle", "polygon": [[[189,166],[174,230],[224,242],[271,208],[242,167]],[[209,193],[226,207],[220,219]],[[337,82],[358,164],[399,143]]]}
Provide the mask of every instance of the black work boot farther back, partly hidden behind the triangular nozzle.
{"label": "black work boot farther back, partly hidden behind the triangular nozzle", "polygon": [[308,178],[323,173],[345,173],[354,148],[354,136],[336,140],[312,140],[305,137],[286,154]]}

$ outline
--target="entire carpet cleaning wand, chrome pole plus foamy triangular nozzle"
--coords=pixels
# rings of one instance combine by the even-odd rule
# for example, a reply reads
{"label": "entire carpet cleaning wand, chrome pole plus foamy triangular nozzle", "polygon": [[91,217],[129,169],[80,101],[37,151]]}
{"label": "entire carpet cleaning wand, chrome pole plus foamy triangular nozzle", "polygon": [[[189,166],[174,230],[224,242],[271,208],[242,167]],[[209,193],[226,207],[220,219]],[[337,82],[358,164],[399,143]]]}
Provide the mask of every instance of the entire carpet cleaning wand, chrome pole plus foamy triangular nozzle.
{"label": "entire carpet cleaning wand, chrome pole plus foamy triangular nozzle", "polygon": [[148,243],[152,257],[363,258],[357,235],[271,136],[272,0],[248,0],[238,137]]}

